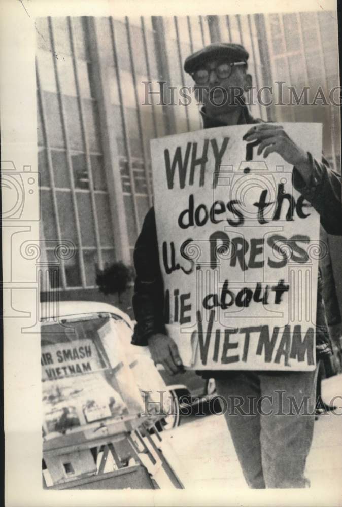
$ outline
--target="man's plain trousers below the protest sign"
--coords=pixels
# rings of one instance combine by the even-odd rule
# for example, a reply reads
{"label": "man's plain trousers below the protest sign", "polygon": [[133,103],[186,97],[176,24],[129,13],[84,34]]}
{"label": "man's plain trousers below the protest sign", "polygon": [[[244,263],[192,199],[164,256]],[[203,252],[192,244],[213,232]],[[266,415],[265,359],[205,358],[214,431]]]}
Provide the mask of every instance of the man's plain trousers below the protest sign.
{"label": "man's plain trousers below the protest sign", "polygon": [[[304,488],[312,444],[312,372],[238,372],[215,379],[234,448],[250,488]],[[222,403],[224,402],[224,403]]]}

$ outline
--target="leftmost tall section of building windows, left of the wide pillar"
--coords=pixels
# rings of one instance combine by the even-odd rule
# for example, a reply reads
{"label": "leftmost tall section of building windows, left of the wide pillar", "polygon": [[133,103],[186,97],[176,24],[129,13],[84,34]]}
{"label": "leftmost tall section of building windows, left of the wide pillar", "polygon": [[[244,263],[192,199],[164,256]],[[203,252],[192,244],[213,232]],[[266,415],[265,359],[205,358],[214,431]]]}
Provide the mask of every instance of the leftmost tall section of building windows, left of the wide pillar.
{"label": "leftmost tall section of building windows, left of the wide pillar", "polygon": [[[46,257],[56,263],[56,245],[71,241],[74,252],[61,261],[60,288],[93,287],[96,266],[102,268],[109,257],[114,261],[115,248],[88,23],[39,18],[36,27]],[[51,276],[50,288],[54,285]]]}

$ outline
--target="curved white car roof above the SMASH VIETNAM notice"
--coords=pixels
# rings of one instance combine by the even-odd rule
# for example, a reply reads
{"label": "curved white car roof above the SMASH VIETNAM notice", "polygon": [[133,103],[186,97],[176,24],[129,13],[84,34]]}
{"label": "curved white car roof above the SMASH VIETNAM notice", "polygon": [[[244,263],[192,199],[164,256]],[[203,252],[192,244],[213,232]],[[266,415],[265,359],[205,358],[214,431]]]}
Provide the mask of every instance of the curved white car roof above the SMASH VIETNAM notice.
{"label": "curved white car roof above the SMASH VIETNAM notice", "polygon": [[84,313],[112,313],[123,318],[132,325],[132,321],[127,313],[116,306],[101,301],[59,301],[58,306],[51,303],[41,303],[41,320],[48,320],[52,317],[69,317],[71,315],[81,315]]}

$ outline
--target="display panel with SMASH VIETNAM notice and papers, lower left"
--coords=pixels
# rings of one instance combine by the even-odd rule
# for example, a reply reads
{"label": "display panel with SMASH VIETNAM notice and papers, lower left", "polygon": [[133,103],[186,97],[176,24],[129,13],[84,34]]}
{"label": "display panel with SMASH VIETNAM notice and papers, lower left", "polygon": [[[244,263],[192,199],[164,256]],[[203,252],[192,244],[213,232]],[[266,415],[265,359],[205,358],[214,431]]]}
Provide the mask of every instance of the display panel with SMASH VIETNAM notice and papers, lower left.
{"label": "display panel with SMASH VIETNAM notice and papers, lower left", "polygon": [[45,438],[141,411],[140,391],[138,387],[134,391],[122,345],[121,334],[126,329],[125,322],[109,314],[42,324]]}

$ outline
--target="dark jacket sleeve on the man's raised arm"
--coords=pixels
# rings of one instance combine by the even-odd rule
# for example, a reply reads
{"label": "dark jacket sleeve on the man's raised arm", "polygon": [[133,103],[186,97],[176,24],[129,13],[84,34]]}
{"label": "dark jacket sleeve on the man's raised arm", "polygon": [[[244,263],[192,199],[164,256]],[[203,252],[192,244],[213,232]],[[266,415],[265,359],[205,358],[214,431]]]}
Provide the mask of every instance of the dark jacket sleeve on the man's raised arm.
{"label": "dark jacket sleeve on the man's raised arm", "polygon": [[320,214],[321,225],[328,234],[342,235],[342,199],[340,175],[330,169],[323,157],[322,162],[309,155],[312,175],[305,183],[296,167],[292,172],[292,184]]}

